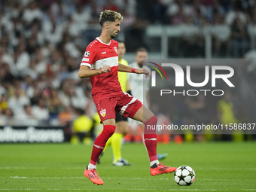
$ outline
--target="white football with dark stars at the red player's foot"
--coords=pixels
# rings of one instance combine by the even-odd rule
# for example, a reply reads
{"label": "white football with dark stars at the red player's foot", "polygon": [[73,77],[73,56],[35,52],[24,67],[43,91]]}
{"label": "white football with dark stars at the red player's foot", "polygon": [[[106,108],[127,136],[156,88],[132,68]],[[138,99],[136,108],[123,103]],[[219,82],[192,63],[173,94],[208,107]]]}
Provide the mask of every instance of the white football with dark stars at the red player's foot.
{"label": "white football with dark stars at the red player's foot", "polygon": [[190,166],[180,166],[174,173],[174,180],[180,186],[193,184],[196,174]]}

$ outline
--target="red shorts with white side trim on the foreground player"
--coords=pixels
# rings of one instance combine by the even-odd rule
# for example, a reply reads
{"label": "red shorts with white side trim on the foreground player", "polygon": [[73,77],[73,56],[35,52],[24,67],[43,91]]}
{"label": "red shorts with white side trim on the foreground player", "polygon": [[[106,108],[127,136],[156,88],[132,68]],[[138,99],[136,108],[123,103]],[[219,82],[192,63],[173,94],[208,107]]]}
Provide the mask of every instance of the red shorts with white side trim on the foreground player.
{"label": "red shorts with white side trim on the foreground player", "polygon": [[142,102],[128,93],[123,93],[123,96],[102,99],[95,102],[95,105],[102,123],[106,119],[115,119],[116,111],[124,117],[133,117],[142,107]]}

